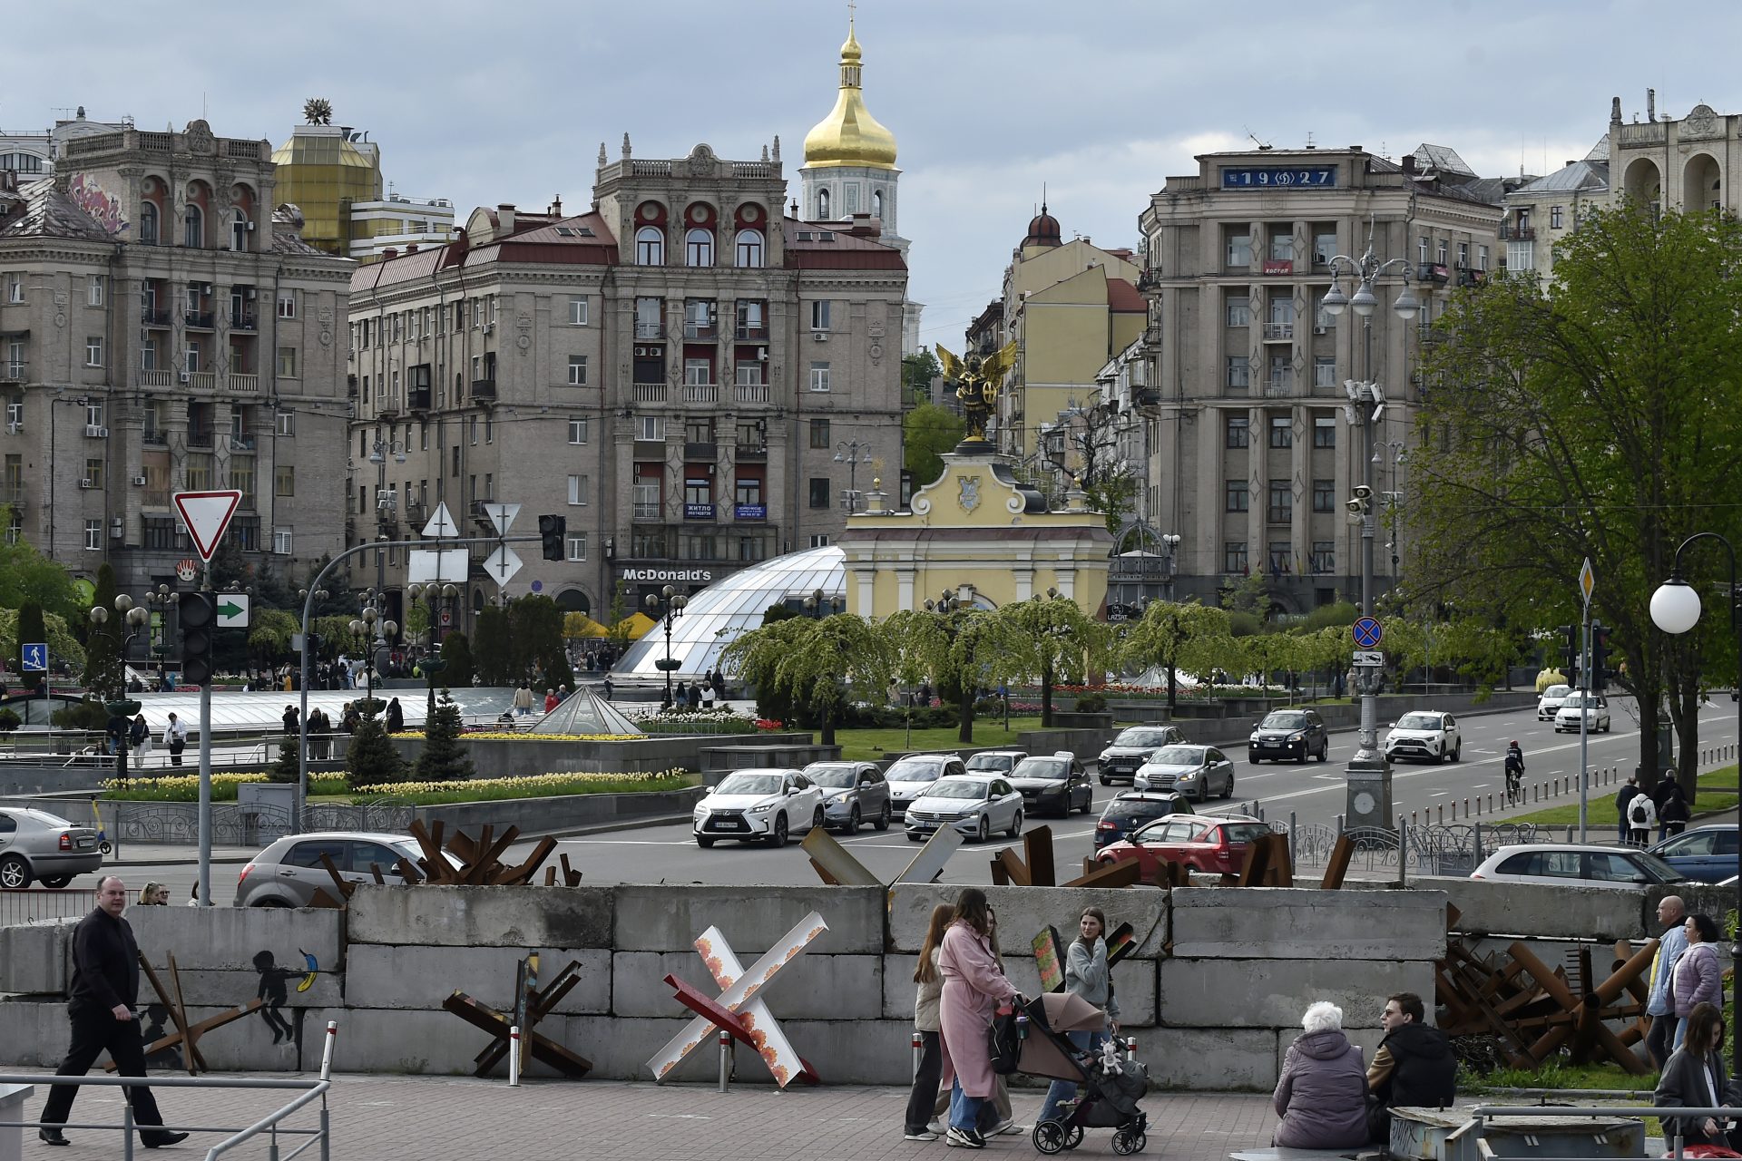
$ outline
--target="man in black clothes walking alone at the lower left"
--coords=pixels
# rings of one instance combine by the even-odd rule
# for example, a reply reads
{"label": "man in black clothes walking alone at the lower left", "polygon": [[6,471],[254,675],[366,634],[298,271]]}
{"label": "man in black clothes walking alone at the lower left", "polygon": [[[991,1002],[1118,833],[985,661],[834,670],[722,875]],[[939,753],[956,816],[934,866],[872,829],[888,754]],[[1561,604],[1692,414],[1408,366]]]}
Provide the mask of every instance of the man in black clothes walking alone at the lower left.
{"label": "man in black clothes walking alone at the lower left", "polygon": [[[66,994],[66,1015],[73,1025],[73,1043],[56,1076],[84,1076],[108,1050],[122,1076],[145,1076],[145,1043],[132,1018],[139,1001],[139,945],[132,928],[120,912],[127,909],[127,886],[115,876],[98,884],[98,907],[73,928],[73,983]],[[145,1084],[127,1088],[132,1119],[139,1124],[139,1140],[146,1149],[172,1145],[186,1133],[162,1128],[164,1116],[157,1098]],[[49,1090],[49,1104],[42,1109],[44,1128],[38,1137],[51,1145],[70,1144],[59,1124],[73,1109],[77,1084],[56,1084]]]}

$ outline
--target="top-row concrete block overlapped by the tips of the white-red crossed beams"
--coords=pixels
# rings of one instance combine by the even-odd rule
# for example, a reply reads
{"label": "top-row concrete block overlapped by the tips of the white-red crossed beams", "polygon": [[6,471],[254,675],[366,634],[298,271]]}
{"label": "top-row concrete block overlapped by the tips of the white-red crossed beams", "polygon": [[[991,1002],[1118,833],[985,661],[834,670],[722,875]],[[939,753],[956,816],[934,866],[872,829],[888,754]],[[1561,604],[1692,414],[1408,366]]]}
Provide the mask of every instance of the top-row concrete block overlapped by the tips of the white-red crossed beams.
{"label": "top-row concrete block overlapped by the tips of the white-red crossed beams", "polygon": [[[625,952],[693,952],[695,938],[718,926],[746,968],[810,912],[829,929],[807,956],[883,952],[883,888],[786,886],[618,886],[617,938]],[[589,945],[591,947],[591,945]]]}

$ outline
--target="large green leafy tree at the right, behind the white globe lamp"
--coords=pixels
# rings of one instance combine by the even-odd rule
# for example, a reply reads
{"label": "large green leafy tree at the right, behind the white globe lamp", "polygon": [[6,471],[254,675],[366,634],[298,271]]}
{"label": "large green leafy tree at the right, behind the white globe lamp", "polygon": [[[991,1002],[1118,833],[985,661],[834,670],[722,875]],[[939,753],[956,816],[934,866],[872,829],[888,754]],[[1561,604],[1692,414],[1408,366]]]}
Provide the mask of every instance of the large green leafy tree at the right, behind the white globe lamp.
{"label": "large green leafy tree at the right, behind the white globe lamp", "polygon": [[[1742,510],[1714,503],[1742,472],[1739,268],[1742,223],[1728,214],[1582,212],[1556,244],[1552,285],[1496,279],[1439,320],[1409,460],[1411,595],[1543,630],[1580,620],[1589,559],[1592,616],[1643,710],[1644,785],[1667,698],[1690,797],[1704,674],[1733,674],[1735,642],[1712,614],[1667,639],[1648,607],[1686,536],[1742,533]],[[1704,552],[1688,564],[1697,581],[1721,576]]]}

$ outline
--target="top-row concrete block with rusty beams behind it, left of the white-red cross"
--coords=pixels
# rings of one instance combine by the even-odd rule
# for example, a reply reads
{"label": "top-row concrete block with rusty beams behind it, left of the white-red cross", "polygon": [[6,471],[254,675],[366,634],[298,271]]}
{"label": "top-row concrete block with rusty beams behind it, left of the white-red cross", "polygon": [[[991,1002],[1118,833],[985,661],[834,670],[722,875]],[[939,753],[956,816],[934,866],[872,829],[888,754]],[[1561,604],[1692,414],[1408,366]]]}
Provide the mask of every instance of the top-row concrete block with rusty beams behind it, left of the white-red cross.
{"label": "top-row concrete block with rusty beams behind it, left of the white-red cross", "polygon": [[362,886],[352,943],[430,947],[610,947],[611,888]]}

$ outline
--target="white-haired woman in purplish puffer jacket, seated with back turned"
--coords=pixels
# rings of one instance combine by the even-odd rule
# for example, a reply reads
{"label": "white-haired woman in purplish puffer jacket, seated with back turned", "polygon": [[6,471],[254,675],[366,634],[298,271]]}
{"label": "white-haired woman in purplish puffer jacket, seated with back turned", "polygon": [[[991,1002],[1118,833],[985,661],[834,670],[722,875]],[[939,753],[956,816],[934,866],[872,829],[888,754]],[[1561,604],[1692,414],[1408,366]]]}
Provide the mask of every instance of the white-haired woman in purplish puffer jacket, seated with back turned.
{"label": "white-haired woman in purplish puffer jacket, seated with back turned", "polygon": [[1305,1034],[1289,1044],[1273,1098],[1277,1145],[1354,1149],[1367,1144],[1367,1067],[1343,1036],[1343,1010],[1329,1001],[1306,1008]]}

